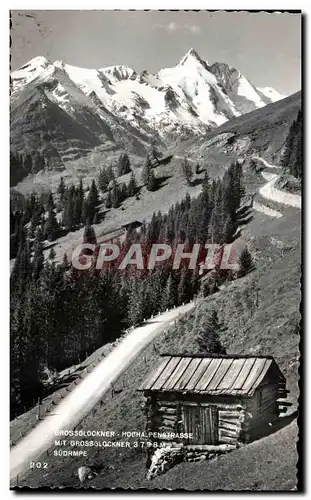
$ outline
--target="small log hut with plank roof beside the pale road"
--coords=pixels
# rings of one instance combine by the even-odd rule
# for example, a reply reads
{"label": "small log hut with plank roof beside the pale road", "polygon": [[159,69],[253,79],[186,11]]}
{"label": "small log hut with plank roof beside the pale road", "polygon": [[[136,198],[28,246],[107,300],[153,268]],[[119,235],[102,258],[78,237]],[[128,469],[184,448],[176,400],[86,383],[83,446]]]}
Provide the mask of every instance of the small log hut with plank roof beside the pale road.
{"label": "small log hut with plank roof beside the pale road", "polygon": [[278,399],[287,393],[272,356],[200,354],[163,355],[138,390],[149,436],[197,447],[259,436],[278,418]]}

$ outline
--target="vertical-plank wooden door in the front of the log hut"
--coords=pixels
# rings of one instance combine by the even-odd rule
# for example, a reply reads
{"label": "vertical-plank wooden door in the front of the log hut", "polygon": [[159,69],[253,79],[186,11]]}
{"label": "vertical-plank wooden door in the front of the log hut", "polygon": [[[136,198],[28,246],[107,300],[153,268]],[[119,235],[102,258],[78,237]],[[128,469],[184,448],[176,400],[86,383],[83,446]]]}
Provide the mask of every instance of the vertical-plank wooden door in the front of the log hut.
{"label": "vertical-plank wooden door in the front of the log hut", "polygon": [[218,436],[217,408],[214,406],[182,407],[184,431],[192,433],[189,444],[216,444]]}

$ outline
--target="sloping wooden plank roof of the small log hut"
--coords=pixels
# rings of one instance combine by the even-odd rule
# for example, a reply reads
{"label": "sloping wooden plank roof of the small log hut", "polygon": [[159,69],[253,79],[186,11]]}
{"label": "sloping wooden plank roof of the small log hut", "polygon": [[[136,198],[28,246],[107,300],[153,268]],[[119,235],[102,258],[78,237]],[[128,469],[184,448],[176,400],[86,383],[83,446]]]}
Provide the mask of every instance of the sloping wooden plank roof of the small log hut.
{"label": "sloping wooden plank roof of the small log hut", "polygon": [[164,355],[138,390],[251,396],[270,370],[284,380],[272,356]]}

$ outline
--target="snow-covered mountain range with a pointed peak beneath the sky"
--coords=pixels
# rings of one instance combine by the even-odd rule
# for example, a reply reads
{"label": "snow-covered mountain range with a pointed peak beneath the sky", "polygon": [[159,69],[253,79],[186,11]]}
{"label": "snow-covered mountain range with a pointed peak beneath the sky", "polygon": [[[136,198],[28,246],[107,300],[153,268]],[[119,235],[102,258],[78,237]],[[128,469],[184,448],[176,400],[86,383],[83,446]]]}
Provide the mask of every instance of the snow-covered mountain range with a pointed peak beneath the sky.
{"label": "snow-covered mountain range with a pointed peak beneath the sky", "polygon": [[157,74],[40,56],[13,71],[11,83],[12,147],[48,149],[50,156],[53,149],[63,161],[72,158],[68,147],[77,155],[103,143],[137,150],[154,134],[164,142],[202,134],[284,97],[257,89],[228,64],[209,64],[194,49]]}

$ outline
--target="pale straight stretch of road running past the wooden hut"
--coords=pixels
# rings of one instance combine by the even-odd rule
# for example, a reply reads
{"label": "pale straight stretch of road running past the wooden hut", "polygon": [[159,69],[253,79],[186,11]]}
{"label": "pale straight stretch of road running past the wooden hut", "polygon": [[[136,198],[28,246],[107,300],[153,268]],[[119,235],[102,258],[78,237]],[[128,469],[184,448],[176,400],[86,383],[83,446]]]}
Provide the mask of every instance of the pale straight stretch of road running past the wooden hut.
{"label": "pale straight stretch of road running past the wooden hut", "polygon": [[[110,389],[139,353],[180,315],[194,307],[190,302],[146,321],[127,333],[119,345],[17,445],[11,448],[10,479],[21,478],[54,443],[56,432],[74,429]],[[57,438],[56,438],[57,439]]]}

